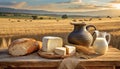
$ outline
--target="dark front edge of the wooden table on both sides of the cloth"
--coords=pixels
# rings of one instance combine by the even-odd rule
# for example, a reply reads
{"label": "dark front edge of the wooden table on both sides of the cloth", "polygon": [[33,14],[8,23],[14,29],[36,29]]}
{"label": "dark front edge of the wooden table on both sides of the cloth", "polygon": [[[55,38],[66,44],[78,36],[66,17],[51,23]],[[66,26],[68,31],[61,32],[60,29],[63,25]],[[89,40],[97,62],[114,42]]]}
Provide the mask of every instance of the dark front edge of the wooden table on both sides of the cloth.
{"label": "dark front edge of the wooden table on both sides of the cloth", "polygon": [[[79,61],[83,66],[120,66],[120,61]],[[1,66],[11,67],[57,67],[61,62],[2,62]]]}

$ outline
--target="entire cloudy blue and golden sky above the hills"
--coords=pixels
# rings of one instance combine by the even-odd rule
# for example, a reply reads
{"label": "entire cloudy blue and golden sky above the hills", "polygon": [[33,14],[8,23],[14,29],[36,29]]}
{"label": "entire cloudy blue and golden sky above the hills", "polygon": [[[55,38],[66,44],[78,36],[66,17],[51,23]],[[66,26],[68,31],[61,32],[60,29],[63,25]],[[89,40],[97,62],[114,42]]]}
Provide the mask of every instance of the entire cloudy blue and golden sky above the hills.
{"label": "entire cloudy blue and golden sky above the hills", "polygon": [[0,7],[55,12],[120,9],[120,0],[0,0]]}

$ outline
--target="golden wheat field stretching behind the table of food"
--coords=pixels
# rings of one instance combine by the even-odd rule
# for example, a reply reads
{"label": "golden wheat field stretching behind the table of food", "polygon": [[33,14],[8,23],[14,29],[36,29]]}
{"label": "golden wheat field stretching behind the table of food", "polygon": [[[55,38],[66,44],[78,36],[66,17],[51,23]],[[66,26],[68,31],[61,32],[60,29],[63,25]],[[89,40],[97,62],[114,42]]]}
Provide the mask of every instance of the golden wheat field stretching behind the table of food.
{"label": "golden wheat field stretching behind the table of food", "polygon": [[[0,48],[7,47],[11,41],[18,38],[34,38],[42,40],[44,36],[59,36],[67,44],[67,36],[74,26],[70,23],[72,19],[60,20],[30,20],[30,19],[10,19],[0,18]],[[120,18],[77,18],[77,22],[85,22],[94,25],[100,31],[111,34],[110,45],[120,49]],[[7,44],[6,44],[7,43]]]}

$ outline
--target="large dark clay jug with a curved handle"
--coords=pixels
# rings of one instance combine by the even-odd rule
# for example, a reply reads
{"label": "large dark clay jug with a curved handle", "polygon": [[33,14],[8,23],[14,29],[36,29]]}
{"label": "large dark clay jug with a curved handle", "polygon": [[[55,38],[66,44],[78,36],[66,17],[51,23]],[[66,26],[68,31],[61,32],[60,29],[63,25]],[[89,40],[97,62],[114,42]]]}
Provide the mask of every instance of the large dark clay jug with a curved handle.
{"label": "large dark clay jug with a curved handle", "polygon": [[94,25],[86,25],[85,23],[71,23],[74,25],[74,30],[68,35],[68,42],[75,45],[91,46],[93,36],[88,31],[90,27],[96,30]]}

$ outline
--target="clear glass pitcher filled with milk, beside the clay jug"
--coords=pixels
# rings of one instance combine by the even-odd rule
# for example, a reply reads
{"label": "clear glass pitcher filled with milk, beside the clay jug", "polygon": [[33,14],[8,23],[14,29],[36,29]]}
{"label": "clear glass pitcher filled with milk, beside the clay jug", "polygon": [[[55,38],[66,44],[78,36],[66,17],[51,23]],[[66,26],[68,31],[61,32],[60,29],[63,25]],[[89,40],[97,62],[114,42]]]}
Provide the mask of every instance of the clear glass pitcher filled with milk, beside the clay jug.
{"label": "clear glass pitcher filled with milk, beside the clay jug", "polygon": [[[108,51],[108,44],[110,43],[111,35],[106,32],[95,31],[93,36],[96,35],[96,39],[93,43],[93,48],[98,54],[105,54]],[[108,36],[108,40],[106,37]]]}

